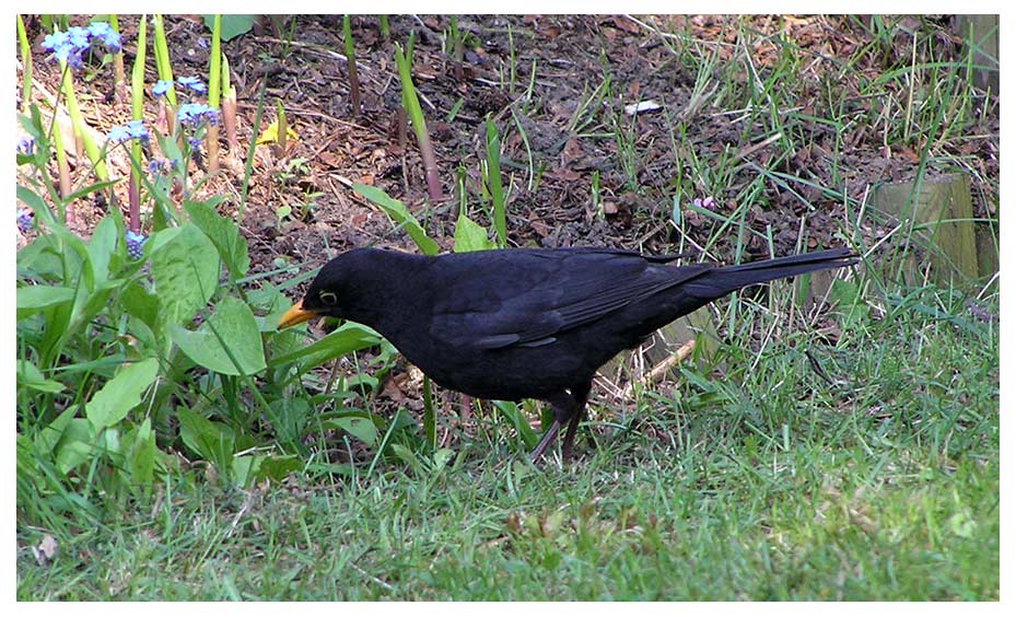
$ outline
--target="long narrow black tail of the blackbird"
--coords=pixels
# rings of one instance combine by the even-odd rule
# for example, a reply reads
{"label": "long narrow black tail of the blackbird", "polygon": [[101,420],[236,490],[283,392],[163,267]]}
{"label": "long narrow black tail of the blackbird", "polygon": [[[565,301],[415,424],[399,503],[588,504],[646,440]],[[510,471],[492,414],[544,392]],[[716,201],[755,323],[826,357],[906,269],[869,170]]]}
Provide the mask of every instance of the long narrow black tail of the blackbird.
{"label": "long narrow black tail of the blackbird", "polygon": [[849,248],[831,248],[804,255],[764,259],[739,266],[709,270],[685,283],[685,290],[694,295],[720,298],[749,284],[759,284],[807,272],[853,266],[857,255]]}

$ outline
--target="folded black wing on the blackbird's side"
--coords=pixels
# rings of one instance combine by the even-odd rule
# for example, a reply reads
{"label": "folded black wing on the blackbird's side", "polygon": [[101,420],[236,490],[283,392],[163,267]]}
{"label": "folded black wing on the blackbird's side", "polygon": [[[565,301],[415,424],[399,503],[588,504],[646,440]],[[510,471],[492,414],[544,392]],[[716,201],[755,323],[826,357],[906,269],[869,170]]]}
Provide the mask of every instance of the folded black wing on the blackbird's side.
{"label": "folded black wing on the blackbird's side", "polygon": [[558,333],[712,269],[653,265],[674,258],[651,261],[627,251],[571,249],[464,260],[445,269],[455,292],[436,303],[431,334],[477,349],[547,345]]}

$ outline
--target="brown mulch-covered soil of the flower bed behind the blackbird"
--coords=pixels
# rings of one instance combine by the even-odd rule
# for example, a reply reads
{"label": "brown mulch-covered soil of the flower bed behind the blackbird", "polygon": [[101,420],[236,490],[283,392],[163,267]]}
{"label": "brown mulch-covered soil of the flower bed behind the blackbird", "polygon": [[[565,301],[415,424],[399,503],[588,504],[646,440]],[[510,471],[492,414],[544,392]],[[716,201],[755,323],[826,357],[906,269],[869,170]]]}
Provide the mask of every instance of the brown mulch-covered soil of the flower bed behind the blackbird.
{"label": "brown mulch-covered soil of the flower bed behind the blackbird", "polygon": [[[390,40],[405,44],[410,32],[416,36],[413,77],[436,151],[443,202],[425,198],[411,135],[407,144],[399,143],[400,90],[392,43],[376,18],[352,20],[362,91],[359,114],[351,108],[340,18],[296,16],[278,27],[266,23],[223,45],[238,91],[241,142],[249,143],[256,132],[262,88],[262,127],[275,119],[279,101],[299,136],[284,153],[258,148],[242,212],[245,151],[225,149],[223,172],[201,189],[230,196],[222,208],[242,221],[255,272],[276,269],[280,259],[314,267],[340,251],[371,243],[413,249],[383,213],[348,188],[350,182],[373,184],[402,200],[449,248],[459,174],[470,195],[470,213],[489,221],[474,197],[482,190],[479,168],[488,114],[503,142],[513,246],[596,244],[666,253],[684,241],[708,246],[711,257],[727,260],[741,243],[749,253],[768,256],[771,238],[773,252],[783,255],[796,251],[802,238],[808,247],[839,244],[834,236],[842,226],[844,196],[860,200],[872,183],[916,172],[916,148],[890,151],[877,126],[848,121],[871,117],[880,101],[866,80],[909,57],[912,39],[906,35],[906,21],[899,36],[866,53],[871,35],[854,18],[464,16],[456,23],[465,43],[460,61],[448,43],[448,16],[392,16],[389,22]],[[939,22],[935,27],[941,36],[931,39],[931,51],[959,58],[960,42]],[[129,67],[137,22],[125,16],[120,23]],[[206,73],[205,25],[195,16],[168,18],[166,23],[176,73]],[[28,31],[42,59],[39,24],[30,20]],[[714,63],[703,69],[694,58]],[[798,81],[767,81],[789,61]],[[845,62],[852,70],[843,70]],[[56,92],[54,65],[37,61],[35,77]],[[81,82],[82,107],[89,123],[105,132],[127,119],[128,108],[113,100],[110,71],[94,71],[90,78]],[[731,80],[754,83],[758,98],[740,107],[717,107]],[[891,91],[895,83],[887,81],[883,90]],[[793,108],[775,112],[786,118],[781,135],[774,136],[772,125],[762,126],[748,110],[778,94],[793,102]],[[637,116],[623,113],[624,105],[639,101],[654,101],[659,108]],[[848,118],[845,128],[837,130],[818,119],[829,116],[831,105]],[[967,131],[981,137],[959,142],[956,152],[979,177],[995,183],[996,109]],[[793,143],[791,155],[785,140]],[[723,177],[705,177],[702,170],[716,170]],[[769,182],[761,190],[748,190],[760,173]],[[736,214],[757,233],[717,233],[722,223],[691,210],[685,211],[678,230],[673,221],[678,188],[680,207],[692,198],[709,198],[716,214]],[[976,193],[977,213],[990,213],[984,191]],[[290,213],[280,217],[283,206]],[[102,200],[79,203],[75,226],[86,235],[107,207]],[[879,231],[863,233],[876,237]]]}

